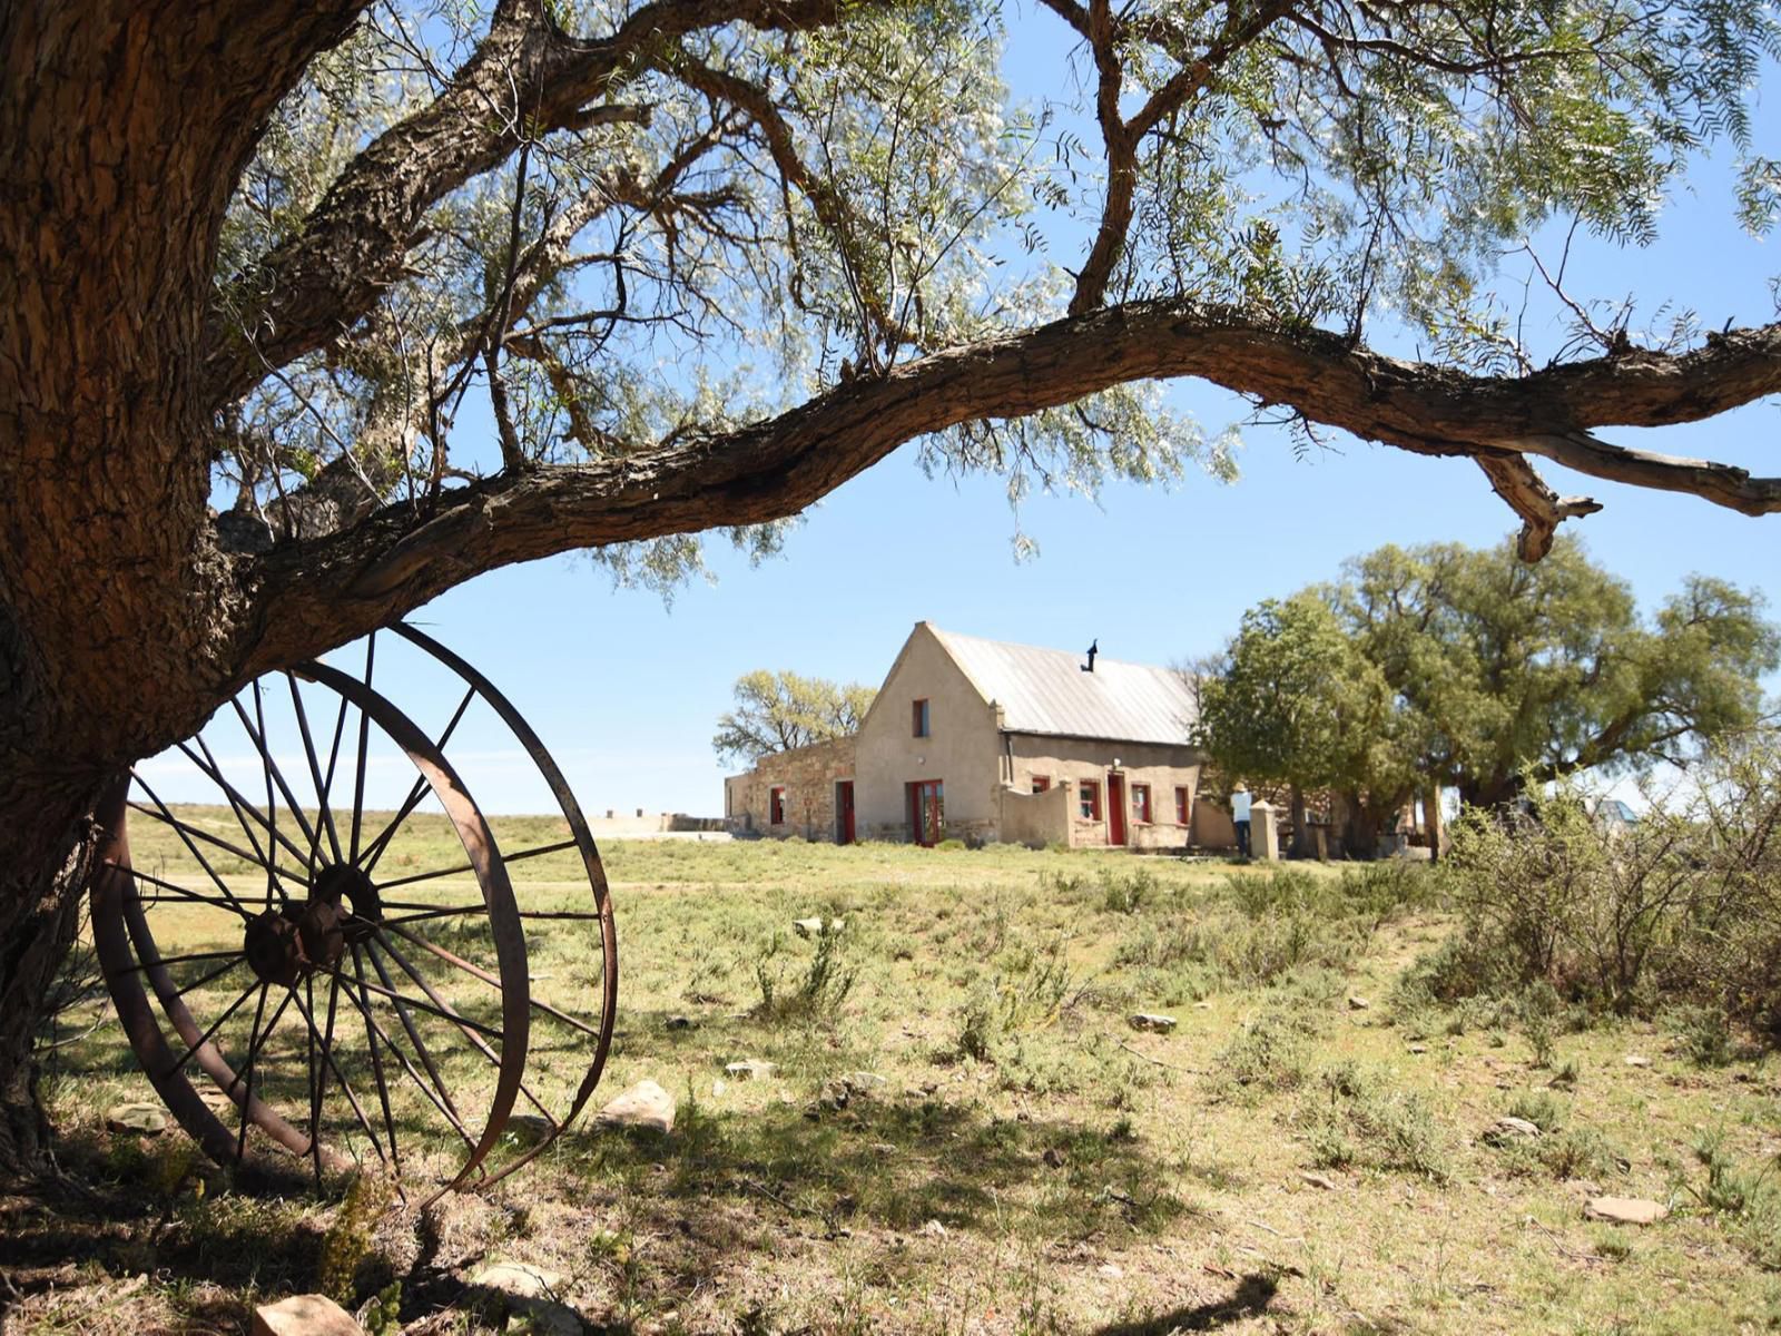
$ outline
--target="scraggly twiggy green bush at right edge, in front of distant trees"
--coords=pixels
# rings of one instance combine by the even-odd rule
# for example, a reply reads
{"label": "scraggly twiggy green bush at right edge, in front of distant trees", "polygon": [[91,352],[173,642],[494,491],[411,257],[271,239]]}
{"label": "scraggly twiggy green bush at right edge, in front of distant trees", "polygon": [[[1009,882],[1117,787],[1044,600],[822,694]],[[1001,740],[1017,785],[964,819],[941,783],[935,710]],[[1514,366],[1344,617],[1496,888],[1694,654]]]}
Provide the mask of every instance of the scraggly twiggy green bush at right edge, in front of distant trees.
{"label": "scraggly twiggy green bush at right edge, in front of distant trees", "polygon": [[[1530,786],[1537,791],[1539,786]],[[1402,992],[1450,1003],[1551,989],[1589,1012],[1696,1010],[1685,1040],[1728,1056],[1720,1021],[1781,1039],[1781,745],[1760,734],[1701,761],[1631,828],[1565,784],[1516,814],[1453,827],[1453,939]]]}

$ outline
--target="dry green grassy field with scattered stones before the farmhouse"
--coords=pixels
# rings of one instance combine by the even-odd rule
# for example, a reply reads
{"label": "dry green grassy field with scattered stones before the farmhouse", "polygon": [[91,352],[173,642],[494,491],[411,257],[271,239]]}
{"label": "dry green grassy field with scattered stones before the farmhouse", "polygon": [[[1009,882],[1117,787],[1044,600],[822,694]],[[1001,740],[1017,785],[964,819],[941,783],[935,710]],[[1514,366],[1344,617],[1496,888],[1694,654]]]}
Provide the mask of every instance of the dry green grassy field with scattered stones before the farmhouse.
{"label": "dry green grassy field with scattered stones before the farmhouse", "polygon": [[[495,823],[504,850],[559,830]],[[137,866],[201,885],[166,835],[132,828]],[[1697,1067],[1663,1022],[1418,1001],[1400,978],[1450,932],[1427,878],[1004,848],[602,853],[622,998],[595,1104],[655,1079],[671,1135],[573,1131],[427,1213],[372,1210],[372,1188],[344,1206],[338,1179],[267,1192],[176,1131],[107,1133],[109,1104],[151,1092],[102,1026],[53,1051],[48,1101],[64,1163],[142,1213],[82,1229],[12,1202],[18,1329],[244,1331],[265,1297],[399,1281],[390,1331],[495,1331],[461,1286],[488,1259],[557,1272],[593,1331],[1781,1329],[1776,1063]],[[456,860],[420,821],[381,876]],[[579,905],[573,873],[572,853],[515,864],[522,905]],[[451,905],[474,882],[408,894]],[[228,944],[194,908],[157,907],[164,951]],[[826,951],[791,928],[812,916],[846,919]],[[540,996],[584,1003],[586,925],[527,935]],[[479,949],[474,928],[454,941]],[[1138,1031],[1140,1010],[1177,1026]],[[280,1040],[289,1067],[301,1039]],[[561,1090],[575,1046],[556,1047],[534,1074]],[[777,1072],[728,1078],[744,1058]],[[465,1106],[492,1071],[467,1049],[442,1067]],[[842,1103],[850,1072],[883,1081]],[[417,1165],[422,1144],[449,1163],[451,1131],[411,1090],[395,1103]],[[1510,1113],[1539,1136],[1492,1144]],[[1603,1192],[1669,1217],[1592,1224]]]}

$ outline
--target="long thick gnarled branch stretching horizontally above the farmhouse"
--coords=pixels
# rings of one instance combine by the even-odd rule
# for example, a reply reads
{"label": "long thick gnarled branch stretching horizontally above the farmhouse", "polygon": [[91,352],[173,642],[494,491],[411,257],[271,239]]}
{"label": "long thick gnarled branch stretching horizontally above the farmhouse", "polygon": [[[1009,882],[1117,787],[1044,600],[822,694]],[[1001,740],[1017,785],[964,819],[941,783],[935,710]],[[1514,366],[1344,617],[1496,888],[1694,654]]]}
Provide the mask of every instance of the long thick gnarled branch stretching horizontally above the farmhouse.
{"label": "long thick gnarled branch stretching horizontally above the farmhouse", "polygon": [[[741,431],[490,479],[449,493],[420,524],[392,508],[322,543],[269,552],[251,577],[262,591],[262,622],[244,672],[313,654],[319,625],[349,639],[483,570],[782,518],[914,436],[1174,376],[1289,404],[1418,454],[1489,460],[1496,481],[1514,468],[1505,442],[1712,417],[1781,392],[1781,324],[1735,331],[1692,353],[1601,358],[1509,379],[1400,362],[1338,335],[1286,331],[1184,301],[1067,317],[851,381]],[[1715,479],[1719,490],[1703,493],[1710,501],[1745,513],[1781,511],[1781,479],[1729,467]],[[1525,479],[1514,486],[1528,490]],[[1539,504],[1530,502],[1533,515]],[[1585,513],[1585,502],[1546,504]]]}

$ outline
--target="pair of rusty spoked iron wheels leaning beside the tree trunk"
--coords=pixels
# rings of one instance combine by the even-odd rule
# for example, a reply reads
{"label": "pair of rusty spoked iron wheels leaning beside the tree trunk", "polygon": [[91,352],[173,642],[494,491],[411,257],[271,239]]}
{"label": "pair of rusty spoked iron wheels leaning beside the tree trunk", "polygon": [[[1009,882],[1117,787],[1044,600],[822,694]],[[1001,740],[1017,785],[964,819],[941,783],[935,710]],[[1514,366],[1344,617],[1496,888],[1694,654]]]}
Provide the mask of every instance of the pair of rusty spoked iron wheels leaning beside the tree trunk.
{"label": "pair of rusty spoked iron wheels leaning beside the tree trunk", "polygon": [[[456,709],[422,730],[378,672],[404,689],[431,673]],[[556,837],[497,843],[465,780],[490,755],[531,766]],[[214,807],[175,811],[192,800]],[[249,684],[110,807],[94,944],[139,1062],[212,1158],[240,1160],[253,1131],[317,1183],[376,1160],[443,1192],[509,1174],[588,1103],[618,987],[598,850],[511,702],[431,638],[397,625],[358,673]],[[579,892],[516,896],[508,868],[550,855]],[[527,932],[579,933],[563,985],[529,978]]]}

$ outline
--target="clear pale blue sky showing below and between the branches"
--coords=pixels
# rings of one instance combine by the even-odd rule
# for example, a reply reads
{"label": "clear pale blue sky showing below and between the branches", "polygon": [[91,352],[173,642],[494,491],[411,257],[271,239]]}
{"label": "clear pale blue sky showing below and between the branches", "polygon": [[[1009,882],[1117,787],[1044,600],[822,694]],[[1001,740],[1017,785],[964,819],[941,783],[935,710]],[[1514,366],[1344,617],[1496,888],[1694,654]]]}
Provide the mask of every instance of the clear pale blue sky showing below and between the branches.
{"label": "clear pale blue sky showing below and between the branches", "polygon": [[[1056,59],[1058,36],[1031,16],[1015,27],[1019,87],[1042,57]],[[1656,246],[1578,251],[1574,285],[1603,297],[1639,292],[1647,314],[1672,297],[1708,328],[1774,319],[1776,244],[1736,228],[1722,166],[1708,164],[1699,182],[1699,194],[1665,210]],[[1053,255],[1070,262],[1065,249]],[[1505,281],[1519,285],[1519,276]],[[1170,401],[1208,433],[1247,411],[1195,383],[1170,387]],[[1694,428],[1603,435],[1776,472],[1777,428],[1770,403]],[[1348,556],[1387,542],[1494,543],[1514,529],[1469,461],[1352,440],[1297,460],[1284,431],[1248,428],[1240,463],[1234,485],[1190,476],[1168,492],[1110,486],[1099,504],[1035,497],[1021,527],[1040,556],[1017,563],[1003,483],[928,479],[910,445],[812,509],[778,559],[750,566],[716,540],[718,582],[680,590],[671,607],[648,591],[614,590],[602,568],[568,558],[483,575],[413,620],[513,697],[586,809],[718,814],[721,771],[709,739],[732,682],[752,668],[876,686],[917,620],[1061,648],[1099,638],[1110,657],[1172,663],[1216,648],[1247,607],[1332,577]],[[1642,606],[1688,572],[1781,595],[1781,518],[1541,468],[1560,492],[1606,502],[1569,529]],[[422,723],[451,709],[422,682],[386,689]],[[467,780],[492,811],[545,805],[516,766],[492,764]]]}

